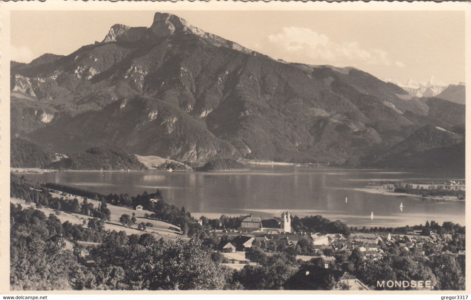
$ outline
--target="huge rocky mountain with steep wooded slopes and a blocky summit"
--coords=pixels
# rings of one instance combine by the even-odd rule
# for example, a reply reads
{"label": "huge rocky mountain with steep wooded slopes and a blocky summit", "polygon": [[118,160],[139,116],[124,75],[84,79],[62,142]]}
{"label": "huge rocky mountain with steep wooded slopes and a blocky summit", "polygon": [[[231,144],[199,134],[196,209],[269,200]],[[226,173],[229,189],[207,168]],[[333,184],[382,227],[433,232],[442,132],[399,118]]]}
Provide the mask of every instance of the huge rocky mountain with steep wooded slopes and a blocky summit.
{"label": "huge rocky mountain with steep wooded slopes and a blocky summit", "polygon": [[102,42],[12,70],[12,134],[58,153],[113,145],[193,163],[357,165],[464,118],[455,103],[440,114],[437,101],[361,70],[276,61],[162,13],[149,28],[116,24]]}

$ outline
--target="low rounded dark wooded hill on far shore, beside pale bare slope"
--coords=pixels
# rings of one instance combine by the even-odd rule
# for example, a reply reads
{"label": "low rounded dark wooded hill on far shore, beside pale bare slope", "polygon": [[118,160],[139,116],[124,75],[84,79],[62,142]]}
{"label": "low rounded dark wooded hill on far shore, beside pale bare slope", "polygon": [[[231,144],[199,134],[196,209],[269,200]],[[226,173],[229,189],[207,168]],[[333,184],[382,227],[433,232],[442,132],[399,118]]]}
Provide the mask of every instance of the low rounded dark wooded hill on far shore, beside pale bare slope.
{"label": "low rounded dark wooded hill on far shore, beside pale bare slope", "polygon": [[146,170],[147,167],[139,162],[135,155],[115,146],[91,147],[83,153],[71,154],[50,166],[54,169],[73,170]]}

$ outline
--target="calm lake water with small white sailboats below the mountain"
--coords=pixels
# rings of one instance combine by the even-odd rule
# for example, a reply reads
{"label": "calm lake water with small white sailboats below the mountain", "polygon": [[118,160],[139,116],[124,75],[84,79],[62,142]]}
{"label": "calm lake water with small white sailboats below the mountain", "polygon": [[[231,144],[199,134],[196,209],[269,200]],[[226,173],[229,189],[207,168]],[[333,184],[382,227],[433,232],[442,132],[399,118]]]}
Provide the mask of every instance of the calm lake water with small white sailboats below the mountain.
{"label": "calm lake water with small white sailboats below the mountain", "polygon": [[[435,220],[465,224],[465,204],[356,191],[376,180],[448,180],[425,172],[335,169],[296,166],[251,166],[235,172],[53,172],[27,175],[103,194],[162,190],[164,200],[195,217],[253,213],[261,217],[322,215],[349,226],[405,226]],[[345,203],[348,197],[348,203]],[[404,211],[399,210],[400,203]],[[371,220],[371,212],[374,220]]]}

